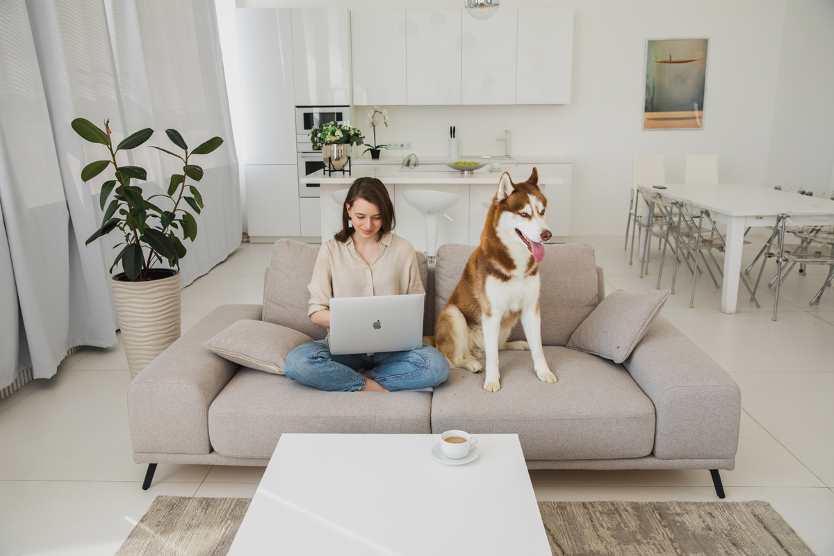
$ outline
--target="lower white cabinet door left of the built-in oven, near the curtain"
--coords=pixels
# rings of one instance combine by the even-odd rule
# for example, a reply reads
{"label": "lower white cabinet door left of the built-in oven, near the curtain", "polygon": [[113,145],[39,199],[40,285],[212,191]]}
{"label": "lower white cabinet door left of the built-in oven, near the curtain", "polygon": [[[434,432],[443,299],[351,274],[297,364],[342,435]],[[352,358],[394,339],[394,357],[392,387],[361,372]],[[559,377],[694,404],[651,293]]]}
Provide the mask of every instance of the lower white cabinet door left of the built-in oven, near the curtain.
{"label": "lower white cabinet door left of the built-in oven, near the curtain", "polygon": [[244,172],[249,236],[301,235],[295,164],[247,164]]}

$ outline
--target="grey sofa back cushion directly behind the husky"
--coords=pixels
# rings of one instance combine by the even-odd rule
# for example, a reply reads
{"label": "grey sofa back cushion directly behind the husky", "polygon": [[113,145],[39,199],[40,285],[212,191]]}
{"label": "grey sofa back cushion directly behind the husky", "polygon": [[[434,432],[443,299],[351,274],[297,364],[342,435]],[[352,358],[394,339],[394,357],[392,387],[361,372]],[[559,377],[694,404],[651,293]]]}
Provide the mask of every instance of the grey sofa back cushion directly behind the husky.
{"label": "grey sofa back cushion directly behind the husky", "polygon": [[[475,247],[460,243],[447,243],[437,250],[436,314],[449,300],[474,250]],[[545,245],[545,260],[539,268],[541,343],[564,346],[570,334],[600,303],[594,248],[585,243]],[[521,323],[510,335],[510,340],[517,339],[524,339]]]}

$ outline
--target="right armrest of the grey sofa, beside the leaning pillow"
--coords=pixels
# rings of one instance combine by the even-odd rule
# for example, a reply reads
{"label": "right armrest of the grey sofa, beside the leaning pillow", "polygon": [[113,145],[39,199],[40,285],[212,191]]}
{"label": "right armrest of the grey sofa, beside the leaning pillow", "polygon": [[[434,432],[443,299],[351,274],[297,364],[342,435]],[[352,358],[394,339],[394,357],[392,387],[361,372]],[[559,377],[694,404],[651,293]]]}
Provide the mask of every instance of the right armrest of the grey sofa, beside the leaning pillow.
{"label": "right armrest of the grey sofa, beside the leaning pillow", "polygon": [[741,392],[730,375],[658,316],[623,363],[655,404],[655,457],[736,457]]}

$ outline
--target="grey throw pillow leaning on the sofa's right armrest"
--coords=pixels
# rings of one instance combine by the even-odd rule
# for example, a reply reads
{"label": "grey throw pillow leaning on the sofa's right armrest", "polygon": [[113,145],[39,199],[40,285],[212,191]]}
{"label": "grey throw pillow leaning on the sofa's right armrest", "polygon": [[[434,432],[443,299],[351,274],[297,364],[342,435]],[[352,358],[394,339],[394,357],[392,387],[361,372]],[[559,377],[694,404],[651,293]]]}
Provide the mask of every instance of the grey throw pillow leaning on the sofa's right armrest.
{"label": "grey throw pillow leaning on the sofa's right armrest", "polygon": [[576,328],[567,347],[622,363],[649,329],[669,298],[669,290],[631,293],[617,290],[602,300]]}

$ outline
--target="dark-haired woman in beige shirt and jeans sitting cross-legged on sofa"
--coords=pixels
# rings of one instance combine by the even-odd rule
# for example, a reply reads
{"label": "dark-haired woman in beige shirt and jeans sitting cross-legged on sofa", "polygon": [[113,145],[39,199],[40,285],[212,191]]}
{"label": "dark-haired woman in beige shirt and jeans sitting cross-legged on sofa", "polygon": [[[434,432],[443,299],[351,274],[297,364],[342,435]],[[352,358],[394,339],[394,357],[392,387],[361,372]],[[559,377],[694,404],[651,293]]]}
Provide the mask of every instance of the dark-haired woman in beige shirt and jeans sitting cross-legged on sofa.
{"label": "dark-haired woman in beige shirt and jeans sitting cross-legged on sofa", "polygon": [[[391,232],[394,205],[384,184],[359,178],[342,208],[342,229],[319,250],[309,283],[308,315],[329,328],[330,299],[425,293],[417,255],[408,240]],[[334,355],[327,339],[289,353],[285,373],[321,390],[393,392],[437,386],[449,376],[449,361],[423,344],[406,352]]]}

